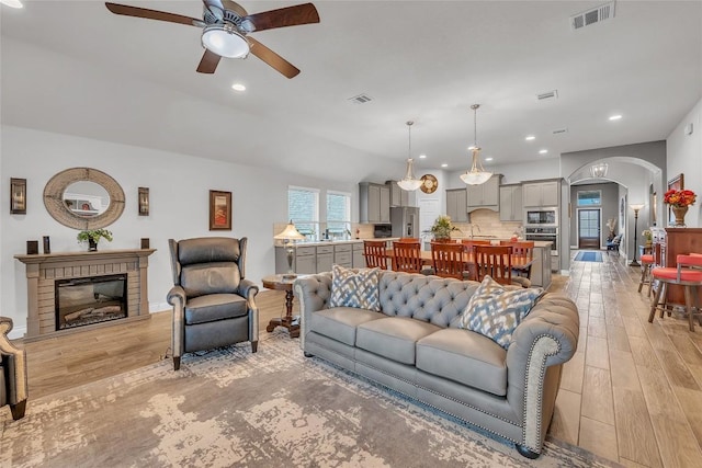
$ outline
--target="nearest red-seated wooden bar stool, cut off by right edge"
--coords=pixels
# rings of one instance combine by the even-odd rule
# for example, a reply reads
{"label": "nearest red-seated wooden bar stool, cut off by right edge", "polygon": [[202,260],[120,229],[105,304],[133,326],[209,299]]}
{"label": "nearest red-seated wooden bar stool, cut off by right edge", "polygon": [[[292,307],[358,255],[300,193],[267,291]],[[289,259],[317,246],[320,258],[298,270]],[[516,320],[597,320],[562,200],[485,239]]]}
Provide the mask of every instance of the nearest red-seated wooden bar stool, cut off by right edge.
{"label": "nearest red-seated wooden bar stool, cut off by right edge", "polygon": [[[660,310],[660,318],[663,318],[664,311],[668,309],[668,285],[677,284],[684,287],[684,305],[688,312],[688,320],[690,322],[690,331],[694,331],[693,323],[693,310],[699,308],[698,287],[702,286],[702,255],[699,253],[692,253],[689,255],[678,255],[676,259],[677,267],[655,267],[652,270],[652,281],[658,279],[660,283],[656,296],[650,304],[650,313],[648,315],[648,322],[653,323],[656,315],[656,309]],[[687,267],[683,267],[687,266]],[[664,293],[665,289],[665,293]],[[660,303],[660,296],[663,296],[663,303]]]}

